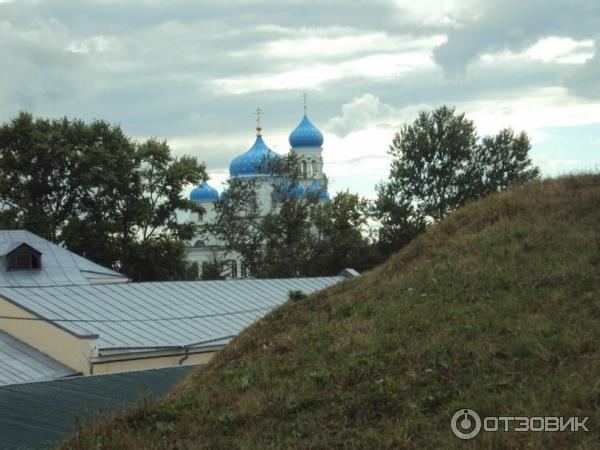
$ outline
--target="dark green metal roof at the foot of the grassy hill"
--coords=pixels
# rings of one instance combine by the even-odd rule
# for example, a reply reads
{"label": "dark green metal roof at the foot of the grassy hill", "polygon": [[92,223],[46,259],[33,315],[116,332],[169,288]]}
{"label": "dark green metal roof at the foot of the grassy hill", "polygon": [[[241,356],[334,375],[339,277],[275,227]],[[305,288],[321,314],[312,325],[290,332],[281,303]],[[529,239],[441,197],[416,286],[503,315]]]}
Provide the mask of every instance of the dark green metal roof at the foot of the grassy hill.
{"label": "dark green metal roof at the foot of the grassy hill", "polygon": [[141,396],[159,397],[193,366],[75,377],[0,387],[0,448],[47,449],[75,430],[79,419],[123,410]]}

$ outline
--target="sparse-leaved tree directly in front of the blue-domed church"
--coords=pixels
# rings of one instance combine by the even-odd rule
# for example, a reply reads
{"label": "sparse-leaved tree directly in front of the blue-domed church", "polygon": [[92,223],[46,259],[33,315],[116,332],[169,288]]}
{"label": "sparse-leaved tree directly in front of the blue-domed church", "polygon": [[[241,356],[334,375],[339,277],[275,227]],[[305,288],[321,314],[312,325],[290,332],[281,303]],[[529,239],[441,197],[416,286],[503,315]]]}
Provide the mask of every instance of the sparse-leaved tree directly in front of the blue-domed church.
{"label": "sparse-leaved tree directly in front of the blue-domed church", "polygon": [[214,206],[215,220],[201,234],[205,242],[224,243],[227,254],[240,254],[255,277],[298,276],[306,265],[311,205],[318,200],[293,195],[301,174],[295,155],[263,164],[276,208],[261,203],[260,179],[230,178]]}

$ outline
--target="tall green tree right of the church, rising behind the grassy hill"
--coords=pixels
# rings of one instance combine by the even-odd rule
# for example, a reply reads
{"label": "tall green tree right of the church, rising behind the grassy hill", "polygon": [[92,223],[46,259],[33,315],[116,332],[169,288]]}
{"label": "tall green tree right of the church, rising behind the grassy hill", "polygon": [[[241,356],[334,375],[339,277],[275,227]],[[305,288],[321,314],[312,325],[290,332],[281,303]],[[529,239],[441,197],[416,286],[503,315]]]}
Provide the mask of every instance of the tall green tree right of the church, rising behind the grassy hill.
{"label": "tall green tree right of the church, rising behind the grassy hill", "polygon": [[466,202],[539,176],[526,133],[477,135],[454,108],[420,112],[394,136],[387,181],[377,186],[380,245],[392,252]]}

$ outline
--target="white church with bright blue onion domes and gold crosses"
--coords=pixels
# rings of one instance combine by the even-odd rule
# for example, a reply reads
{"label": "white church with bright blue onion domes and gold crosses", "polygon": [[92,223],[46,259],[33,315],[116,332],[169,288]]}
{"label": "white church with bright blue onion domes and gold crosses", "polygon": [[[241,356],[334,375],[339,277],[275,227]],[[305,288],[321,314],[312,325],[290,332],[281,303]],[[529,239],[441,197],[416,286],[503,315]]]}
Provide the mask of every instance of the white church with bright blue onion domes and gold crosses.
{"label": "white church with bright blue onion domes and gold crosses", "polygon": [[[281,155],[267,147],[260,125],[261,111],[257,109],[256,139],[250,149],[233,158],[229,164],[229,176],[243,179],[252,179],[257,182],[259,190],[258,199],[262,212],[266,214],[277,207],[277,198],[273,192],[272,178],[266,172],[264,161],[266,159],[281,158]],[[319,201],[328,201],[327,176],[323,171],[323,133],[315,127],[306,115],[298,126],[289,135],[290,152],[293,152],[300,163],[302,171],[301,182],[291,191],[291,195],[305,196],[317,194]],[[190,193],[190,200],[202,206],[205,213],[199,216],[190,213],[188,220],[199,224],[211,223],[215,220],[214,205],[225,194],[219,192],[206,181],[194,188]],[[246,278],[251,274],[248,272],[241,255],[226,254],[222,242],[215,239],[206,241],[196,237],[188,242],[188,259],[198,263],[200,272],[204,263],[211,263],[217,259],[226,258],[226,271],[228,278]]]}

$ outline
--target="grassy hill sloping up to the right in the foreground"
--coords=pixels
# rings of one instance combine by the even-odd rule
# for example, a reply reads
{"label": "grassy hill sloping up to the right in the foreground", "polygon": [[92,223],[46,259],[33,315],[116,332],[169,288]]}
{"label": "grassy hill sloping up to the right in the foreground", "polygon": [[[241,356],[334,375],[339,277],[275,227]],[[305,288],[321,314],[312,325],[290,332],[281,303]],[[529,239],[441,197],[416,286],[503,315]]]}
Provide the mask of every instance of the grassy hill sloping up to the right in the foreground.
{"label": "grassy hill sloping up to the right in the foreground", "polygon": [[[450,431],[590,416],[590,432]],[[256,323],[161,402],[64,448],[598,448],[600,176],[468,205],[381,267]]]}

